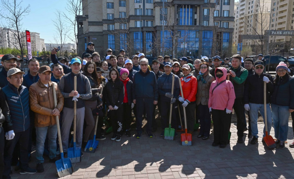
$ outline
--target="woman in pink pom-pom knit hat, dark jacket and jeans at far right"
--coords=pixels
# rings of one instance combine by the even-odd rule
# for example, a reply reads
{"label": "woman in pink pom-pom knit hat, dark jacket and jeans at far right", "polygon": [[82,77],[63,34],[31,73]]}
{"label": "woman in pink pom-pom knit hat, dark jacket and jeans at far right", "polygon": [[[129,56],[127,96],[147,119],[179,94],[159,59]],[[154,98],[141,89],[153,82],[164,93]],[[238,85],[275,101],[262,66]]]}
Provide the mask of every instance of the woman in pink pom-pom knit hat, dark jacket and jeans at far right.
{"label": "woman in pink pom-pom knit hat, dark jacket and jeans at far right", "polygon": [[270,97],[276,144],[285,148],[288,135],[289,113],[294,111],[294,77],[288,74],[288,67],[280,62],[276,68],[274,91]]}

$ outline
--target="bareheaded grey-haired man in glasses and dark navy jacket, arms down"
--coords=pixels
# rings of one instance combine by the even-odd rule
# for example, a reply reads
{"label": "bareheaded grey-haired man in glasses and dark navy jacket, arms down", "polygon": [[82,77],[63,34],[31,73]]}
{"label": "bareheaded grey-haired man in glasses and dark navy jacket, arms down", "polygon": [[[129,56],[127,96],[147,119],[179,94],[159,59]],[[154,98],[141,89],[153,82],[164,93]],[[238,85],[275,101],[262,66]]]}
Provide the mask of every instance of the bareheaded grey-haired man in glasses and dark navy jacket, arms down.
{"label": "bareheaded grey-haired man in glasses and dark navy jacket, arms down", "polygon": [[133,81],[133,94],[135,94],[133,103],[136,104],[137,113],[137,135],[136,138],[141,138],[143,112],[146,110],[147,115],[147,135],[153,137],[152,132],[152,116],[153,105],[158,102],[158,86],[154,72],[148,69],[148,59],[142,58],[140,61],[141,69],[135,73]]}

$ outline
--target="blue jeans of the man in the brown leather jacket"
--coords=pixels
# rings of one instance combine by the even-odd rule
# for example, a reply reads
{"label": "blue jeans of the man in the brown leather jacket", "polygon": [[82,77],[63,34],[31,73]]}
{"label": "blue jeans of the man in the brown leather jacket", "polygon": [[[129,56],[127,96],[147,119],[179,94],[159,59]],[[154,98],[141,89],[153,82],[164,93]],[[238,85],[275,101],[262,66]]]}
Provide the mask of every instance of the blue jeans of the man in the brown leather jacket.
{"label": "blue jeans of the man in the brown leather jacket", "polygon": [[46,135],[48,135],[49,145],[49,158],[53,159],[56,157],[56,137],[57,127],[56,125],[50,125],[46,127],[36,127],[36,159],[37,163],[44,163],[43,152]]}

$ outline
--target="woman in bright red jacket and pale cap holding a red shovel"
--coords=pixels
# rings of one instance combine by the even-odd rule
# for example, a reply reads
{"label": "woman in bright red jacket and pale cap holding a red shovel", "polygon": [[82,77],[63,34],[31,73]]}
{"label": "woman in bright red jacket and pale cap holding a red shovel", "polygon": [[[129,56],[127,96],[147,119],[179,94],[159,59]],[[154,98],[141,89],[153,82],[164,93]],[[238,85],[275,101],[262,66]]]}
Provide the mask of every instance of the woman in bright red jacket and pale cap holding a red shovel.
{"label": "woman in bright red jacket and pale cap holding a red shovel", "polygon": [[178,100],[183,103],[182,106],[186,109],[187,130],[189,134],[192,134],[195,124],[197,79],[190,74],[190,66],[188,64],[183,65],[182,72],[184,75],[181,77],[183,96],[180,95]]}

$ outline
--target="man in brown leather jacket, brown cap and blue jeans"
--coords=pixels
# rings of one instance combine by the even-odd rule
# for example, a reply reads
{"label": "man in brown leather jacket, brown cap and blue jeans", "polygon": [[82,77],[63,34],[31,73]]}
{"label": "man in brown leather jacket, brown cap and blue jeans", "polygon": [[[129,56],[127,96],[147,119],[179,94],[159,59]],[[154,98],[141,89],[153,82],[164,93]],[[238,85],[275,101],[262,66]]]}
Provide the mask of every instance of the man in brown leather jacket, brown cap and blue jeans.
{"label": "man in brown leather jacket, brown cap and blue jeans", "polygon": [[[36,127],[36,170],[44,172],[44,142],[48,135],[49,143],[49,158],[50,162],[55,162],[56,158],[56,117],[58,116],[64,105],[64,97],[61,94],[57,84],[52,82],[51,69],[48,66],[42,66],[39,69],[38,82],[31,85],[30,107],[35,112],[35,127]],[[53,84],[55,84],[57,106],[54,105]]]}

